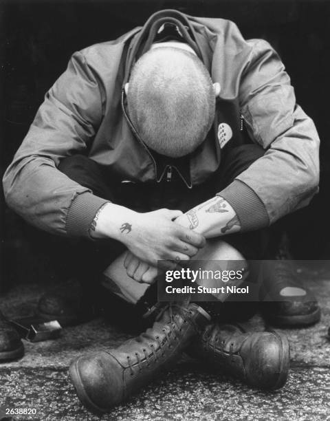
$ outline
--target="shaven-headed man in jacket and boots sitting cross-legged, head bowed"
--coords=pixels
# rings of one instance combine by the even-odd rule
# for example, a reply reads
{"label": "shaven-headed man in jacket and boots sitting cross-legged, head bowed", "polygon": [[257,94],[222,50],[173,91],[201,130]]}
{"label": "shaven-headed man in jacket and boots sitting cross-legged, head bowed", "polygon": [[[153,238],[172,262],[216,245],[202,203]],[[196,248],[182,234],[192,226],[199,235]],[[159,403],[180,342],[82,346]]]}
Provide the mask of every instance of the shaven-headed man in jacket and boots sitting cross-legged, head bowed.
{"label": "shaven-headed man in jacket and boots sitting cross-legged, head bowed", "polygon": [[[102,255],[115,242],[119,291],[157,281],[157,261],[262,259],[267,226],[317,185],[318,135],[272,47],[175,10],[74,54],[4,177],[28,222]],[[93,255],[79,256],[92,281]],[[250,385],[281,387],[285,336],[213,323],[227,296],[217,298],[164,305],[137,338],[74,360],[80,400],[109,411],[189,349]]]}

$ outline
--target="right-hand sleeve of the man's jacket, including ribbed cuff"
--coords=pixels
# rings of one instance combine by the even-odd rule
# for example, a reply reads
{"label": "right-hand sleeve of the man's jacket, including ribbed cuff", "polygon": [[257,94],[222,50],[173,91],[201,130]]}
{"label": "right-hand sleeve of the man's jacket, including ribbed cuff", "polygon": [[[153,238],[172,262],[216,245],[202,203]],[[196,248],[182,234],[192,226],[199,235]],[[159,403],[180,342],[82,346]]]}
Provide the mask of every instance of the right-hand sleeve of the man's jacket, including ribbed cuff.
{"label": "right-hand sleeve of the man's jacket, including ribbed cuff", "polygon": [[262,228],[306,206],[319,182],[314,122],[296,105],[289,76],[270,44],[251,42],[239,100],[250,137],[265,154],[218,193],[236,211],[242,230]]}

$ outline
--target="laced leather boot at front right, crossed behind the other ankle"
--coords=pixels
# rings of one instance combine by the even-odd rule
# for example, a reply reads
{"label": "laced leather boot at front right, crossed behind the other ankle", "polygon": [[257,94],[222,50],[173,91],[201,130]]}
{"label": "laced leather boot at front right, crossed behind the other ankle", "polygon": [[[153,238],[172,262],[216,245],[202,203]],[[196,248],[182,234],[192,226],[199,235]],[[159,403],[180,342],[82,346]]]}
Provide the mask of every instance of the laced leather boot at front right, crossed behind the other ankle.
{"label": "laced leather boot at front right, crossed behind the other ankle", "polygon": [[252,387],[279,389],[289,371],[289,343],[276,332],[245,332],[236,325],[208,325],[188,354]]}

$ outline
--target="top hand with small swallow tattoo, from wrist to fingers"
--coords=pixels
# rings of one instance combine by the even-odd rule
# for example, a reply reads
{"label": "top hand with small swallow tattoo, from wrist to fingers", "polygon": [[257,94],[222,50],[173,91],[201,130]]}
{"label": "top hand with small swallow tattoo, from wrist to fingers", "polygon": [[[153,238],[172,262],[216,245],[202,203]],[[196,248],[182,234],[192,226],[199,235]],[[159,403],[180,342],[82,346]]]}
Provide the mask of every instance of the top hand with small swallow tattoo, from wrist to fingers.
{"label": "top hand with small swallow tattoo, from wrist to fingers", "polygon": [[147,213],[135,213],[129,221],[131,230],[120,241],[138,259],[164,270],[173,269],[177,261],[189,260],[199,248],[205,246],[205,238],[174,220],[182,215],[180,210],[159,209]]}

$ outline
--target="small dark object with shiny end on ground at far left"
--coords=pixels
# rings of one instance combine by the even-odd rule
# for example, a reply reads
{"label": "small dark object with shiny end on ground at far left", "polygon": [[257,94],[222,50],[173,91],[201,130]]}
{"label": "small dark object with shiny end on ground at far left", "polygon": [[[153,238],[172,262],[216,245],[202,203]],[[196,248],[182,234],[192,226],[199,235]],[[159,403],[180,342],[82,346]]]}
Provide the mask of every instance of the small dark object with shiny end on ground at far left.
{"label": "small dark object with shiny end on ground at far left", "polygon": [[30,342],[48,341],[60,336],[62,327],[57,320],[44,322],[35,317],[10,320],[12,327],[17,330],[22,339]]}

